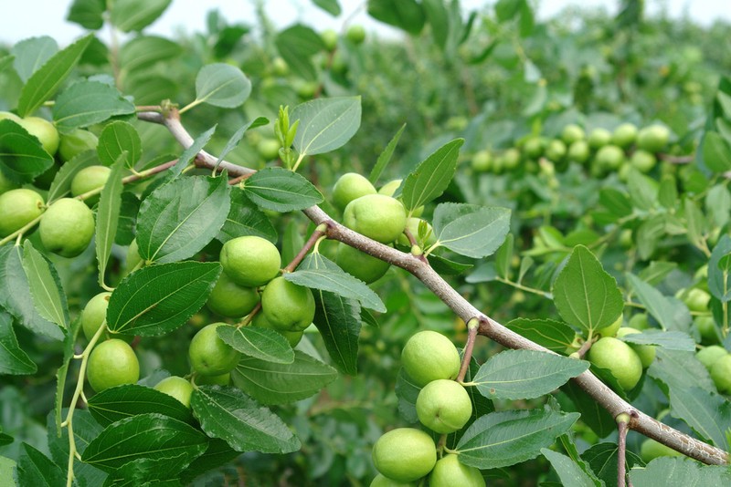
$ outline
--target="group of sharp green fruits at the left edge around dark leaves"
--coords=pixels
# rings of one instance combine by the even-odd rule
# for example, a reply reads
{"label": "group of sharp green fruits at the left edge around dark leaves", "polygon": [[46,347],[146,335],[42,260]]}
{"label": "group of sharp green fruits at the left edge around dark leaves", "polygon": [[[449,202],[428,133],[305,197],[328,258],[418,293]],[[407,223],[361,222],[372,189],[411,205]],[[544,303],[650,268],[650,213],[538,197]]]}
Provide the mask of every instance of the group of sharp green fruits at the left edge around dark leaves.
{"label": "group of sharp green fruits at the left edge around dark leaves", "polygon": [[[98,143],[97,137],[88,130],[73,130],[59,135],[51,122],[38,117],[20,119],[10,112],[0,112],[2,119],[15,122],[35,136],[48,154],[56,156],[58,163],[37,178],[36,183],[41,187],[48,188],[60,164],[70,161],[80,152],[95,150]],[[109,173],[108,167],[99,165],[80,170],[71,181],[71,195],[79,197],[98,190],[109,178]],[[49,252],[64,257],[81,254],[94,234],[94,213],[90,206],[99,200],[99,196],[89,195],[83,202],[79,198],[61,198],[47,206],[43,194],[41,188],[19,188],[0,172],[0,238],[40,219],[40,240]]]}

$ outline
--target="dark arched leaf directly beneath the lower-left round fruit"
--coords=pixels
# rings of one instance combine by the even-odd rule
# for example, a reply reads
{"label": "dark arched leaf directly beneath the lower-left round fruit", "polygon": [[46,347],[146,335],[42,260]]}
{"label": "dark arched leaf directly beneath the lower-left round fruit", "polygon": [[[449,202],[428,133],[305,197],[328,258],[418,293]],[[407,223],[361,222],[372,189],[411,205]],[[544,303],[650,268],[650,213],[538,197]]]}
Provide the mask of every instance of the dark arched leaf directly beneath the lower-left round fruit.
{"label": "dark arched leaf directly beneath the lower-left round fruit", "polygon": [[127,384],[104,389],[89,399],[89,411],[103,427],[138,414],[156,413],[194,424],[193,415],[182,402],[157,389]]}

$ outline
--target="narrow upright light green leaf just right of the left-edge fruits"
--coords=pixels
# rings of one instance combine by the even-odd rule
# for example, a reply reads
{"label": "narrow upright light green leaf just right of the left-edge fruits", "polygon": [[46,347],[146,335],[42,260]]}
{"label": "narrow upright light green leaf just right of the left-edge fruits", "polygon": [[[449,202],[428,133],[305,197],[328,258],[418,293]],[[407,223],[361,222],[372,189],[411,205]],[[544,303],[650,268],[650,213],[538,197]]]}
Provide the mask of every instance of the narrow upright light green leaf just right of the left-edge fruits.
{"label": "narrow upright light green leaf just right of the left-edge fruits", "polygon": [[99,285],[104,287],[104,275],[111,255],[111,245],[117,234],[117,225],[120,221],[122,207],[122,169],[127,161],[127,152],[122,152],[117,161],[111,165],[109,179],[101,190],[99,206],[97,208],[96,251],[99,262]]}

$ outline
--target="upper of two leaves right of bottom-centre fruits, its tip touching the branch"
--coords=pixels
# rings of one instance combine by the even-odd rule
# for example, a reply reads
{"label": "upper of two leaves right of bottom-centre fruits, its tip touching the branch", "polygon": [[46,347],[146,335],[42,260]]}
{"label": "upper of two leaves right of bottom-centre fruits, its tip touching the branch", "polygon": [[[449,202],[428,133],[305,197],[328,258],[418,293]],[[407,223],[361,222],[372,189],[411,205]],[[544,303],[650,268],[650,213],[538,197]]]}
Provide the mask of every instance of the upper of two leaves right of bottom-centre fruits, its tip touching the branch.
{"label": "upper of two leaves right of bottom-centre fruits, its tip touching the branch", "polygon": [[588,362],[534,350],[505,350],[472,379],[487,399],[539,398],[588,369]]}

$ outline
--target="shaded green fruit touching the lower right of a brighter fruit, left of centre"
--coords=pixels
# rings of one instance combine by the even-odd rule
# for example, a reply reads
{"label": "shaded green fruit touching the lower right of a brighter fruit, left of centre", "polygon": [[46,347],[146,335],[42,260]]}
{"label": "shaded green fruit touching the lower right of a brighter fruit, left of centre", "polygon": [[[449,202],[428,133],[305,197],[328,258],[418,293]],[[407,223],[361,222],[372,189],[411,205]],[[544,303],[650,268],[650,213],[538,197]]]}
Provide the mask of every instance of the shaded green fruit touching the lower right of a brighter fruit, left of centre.
{"label": "shaded green fruit touching the lower right of a brighter fruit, left of centre", "polygon": [[314,296],[309,287],[276,277],[261,294],[261,312],[271,326],[282,331],[303,331],[313,323]]}

